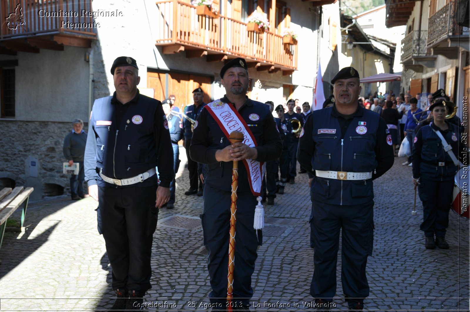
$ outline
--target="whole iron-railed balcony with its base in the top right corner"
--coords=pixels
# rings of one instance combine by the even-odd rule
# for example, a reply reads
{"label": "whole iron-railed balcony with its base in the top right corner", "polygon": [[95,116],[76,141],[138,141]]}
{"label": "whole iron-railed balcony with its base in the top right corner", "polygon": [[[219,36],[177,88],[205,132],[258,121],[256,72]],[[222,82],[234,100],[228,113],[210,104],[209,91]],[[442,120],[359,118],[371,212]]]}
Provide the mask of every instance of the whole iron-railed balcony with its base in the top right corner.
{"label": "whole iron-railed balcony with its base in the top right corner", "polygon": [[457,24],[457,14],[458,2],[450,1],[429,18],[427,46],[433,55],[457,59],[460,48],[469,51],[469,28]]}

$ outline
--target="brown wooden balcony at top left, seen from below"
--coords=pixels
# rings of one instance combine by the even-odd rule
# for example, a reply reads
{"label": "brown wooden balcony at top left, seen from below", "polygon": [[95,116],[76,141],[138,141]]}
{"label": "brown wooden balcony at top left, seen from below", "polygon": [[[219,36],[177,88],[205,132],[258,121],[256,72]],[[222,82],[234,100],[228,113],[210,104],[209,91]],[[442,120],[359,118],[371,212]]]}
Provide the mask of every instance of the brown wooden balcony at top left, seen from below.
{"label": "brown wooden balcony at top left, seen from below", "polygon": [[0,53],[91,47],[96,39],[91,4],[92,0],[2,0]]}

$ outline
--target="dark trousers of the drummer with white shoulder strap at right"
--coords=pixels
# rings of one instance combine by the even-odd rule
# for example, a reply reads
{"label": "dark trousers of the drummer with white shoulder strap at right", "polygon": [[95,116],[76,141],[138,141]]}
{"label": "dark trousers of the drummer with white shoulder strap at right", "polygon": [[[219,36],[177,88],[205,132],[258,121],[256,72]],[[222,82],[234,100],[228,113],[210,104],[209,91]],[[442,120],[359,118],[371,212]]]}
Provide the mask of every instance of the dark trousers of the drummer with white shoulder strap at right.
{"label": "dark trousers of the drummer with white shoulder strap at right", "polygon": [[423,202],[423,223],[420,230],[424,236],[442,237],[449,226],[454,181],[431,181],[420,179],[419,198]]}

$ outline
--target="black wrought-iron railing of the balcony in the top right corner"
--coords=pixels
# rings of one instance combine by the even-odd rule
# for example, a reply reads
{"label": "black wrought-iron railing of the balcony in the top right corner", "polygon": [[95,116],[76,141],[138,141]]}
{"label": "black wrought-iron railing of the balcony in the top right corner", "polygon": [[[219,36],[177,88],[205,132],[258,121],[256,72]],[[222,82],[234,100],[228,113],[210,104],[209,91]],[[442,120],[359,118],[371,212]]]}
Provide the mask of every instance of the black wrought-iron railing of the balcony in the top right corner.
{"label": "black wrought-iron railing of the balcony in the top right corner", "polygon": [[[433,45],[448,36],[462,35],[463,27],[455,21],[458,13],[457,1],[450,1],[429,18],[428,45]],[[468,31],[468,30],[467,30]]]}

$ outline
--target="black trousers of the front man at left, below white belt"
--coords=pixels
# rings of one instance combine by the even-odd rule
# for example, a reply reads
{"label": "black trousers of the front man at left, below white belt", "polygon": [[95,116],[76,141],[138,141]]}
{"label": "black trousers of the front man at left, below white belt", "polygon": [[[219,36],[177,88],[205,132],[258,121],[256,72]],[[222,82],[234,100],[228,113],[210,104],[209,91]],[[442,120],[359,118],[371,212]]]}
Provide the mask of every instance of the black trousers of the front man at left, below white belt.
{"label": "black trousers of the front man at left, below white belt", "polygon": [[157,186],[98,187],[102,232],[115,290],[135,290],[143,296],[151,288],[150,256],[158,218],[156,191]]}

